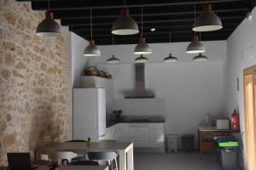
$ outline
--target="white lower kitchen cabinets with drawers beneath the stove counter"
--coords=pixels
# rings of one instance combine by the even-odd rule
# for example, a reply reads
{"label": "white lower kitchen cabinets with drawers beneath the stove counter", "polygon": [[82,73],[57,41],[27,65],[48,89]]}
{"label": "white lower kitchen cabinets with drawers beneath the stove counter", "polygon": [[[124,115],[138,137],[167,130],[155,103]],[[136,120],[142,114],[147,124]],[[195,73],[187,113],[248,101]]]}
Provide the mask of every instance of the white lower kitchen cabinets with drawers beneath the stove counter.
{"label": "white lower kitchen cabinets with drawers beneath the stove counter", "polygon": [[104,139],[132,142],[135,147],[164,149],[164,123],[118,123],[107,128]]}

